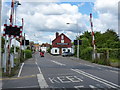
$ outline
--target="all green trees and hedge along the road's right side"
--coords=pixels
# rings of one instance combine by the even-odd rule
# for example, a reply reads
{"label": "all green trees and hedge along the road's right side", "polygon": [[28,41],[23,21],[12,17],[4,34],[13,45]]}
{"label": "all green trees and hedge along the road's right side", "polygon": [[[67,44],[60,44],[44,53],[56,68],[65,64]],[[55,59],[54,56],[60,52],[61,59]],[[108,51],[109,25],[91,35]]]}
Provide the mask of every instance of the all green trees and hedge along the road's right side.
{"label": "all green trees and hedge along the road's right side", "polygon": [[[120,39],[116,32],[112,29],[107,29],[105,33],[94,32],[95,44],[97,47],[97,53],[100,53],[100,58],[93,60],[93,62],[110,65],[110,60],[119,62],[120,61]],[[80,58],[85,60],[92,59],[92,36],[91,32],[84,32],[79,40],[82,40],[80,45]],[[77,46],[75,46],[75,55],[77,53]],[[109,54],[109,60],[107,58]]]}

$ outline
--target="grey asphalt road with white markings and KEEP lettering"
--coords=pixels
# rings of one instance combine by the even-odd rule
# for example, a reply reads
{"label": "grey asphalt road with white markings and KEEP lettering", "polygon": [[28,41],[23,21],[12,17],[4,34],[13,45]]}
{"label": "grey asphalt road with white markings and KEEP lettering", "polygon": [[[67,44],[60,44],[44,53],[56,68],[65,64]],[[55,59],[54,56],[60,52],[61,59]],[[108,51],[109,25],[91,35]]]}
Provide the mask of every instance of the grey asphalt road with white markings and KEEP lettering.
{"label": "grey asphalt road with white markings and KEEP lettering", "polygon": [[120,89],[117,68],[97,65],[74,57],[40,57],[35,53],[32,59],[22,63],[17,76],[3,79],[3,90],[80,90]]}

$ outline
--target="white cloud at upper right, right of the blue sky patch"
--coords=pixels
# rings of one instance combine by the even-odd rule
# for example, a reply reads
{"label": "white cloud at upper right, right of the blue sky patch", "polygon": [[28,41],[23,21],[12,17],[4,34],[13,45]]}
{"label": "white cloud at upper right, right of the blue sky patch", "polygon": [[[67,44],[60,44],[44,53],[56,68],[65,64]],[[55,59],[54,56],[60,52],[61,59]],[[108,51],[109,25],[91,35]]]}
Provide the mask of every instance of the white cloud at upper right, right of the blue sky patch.
{"label": "white cloud at upper right, right of the blue sky patch", "polygon": [[119,0],[96,0],[94,10],[98,18],[94,21],[94,30],[105,32],[113,29],[118,33],[118,1]]}

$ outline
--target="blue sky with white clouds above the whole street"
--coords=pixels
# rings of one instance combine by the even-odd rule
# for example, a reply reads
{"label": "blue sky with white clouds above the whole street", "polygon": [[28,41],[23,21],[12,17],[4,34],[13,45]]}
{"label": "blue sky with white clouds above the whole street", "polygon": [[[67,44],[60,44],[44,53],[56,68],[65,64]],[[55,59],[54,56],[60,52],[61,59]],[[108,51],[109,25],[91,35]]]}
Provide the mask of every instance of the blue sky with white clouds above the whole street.
{"label": "blue sky with white clouds above the whole street", "polygon": [[[2,3],[2,25],[9,24],[11,0]],[[26,39],[35,43],[51,43],[55,33],[64,33],[71,40],[91,31],[89,14],[93,15],[93,30],[104,33],[113,29],[118,33],[119,0],[19,0],[16,24],[24,18]],[[51,2],[50,2],[51,1]],[[69,24],[67,24],[69,23]],[[4,27],[2,26],[2,29]]]}

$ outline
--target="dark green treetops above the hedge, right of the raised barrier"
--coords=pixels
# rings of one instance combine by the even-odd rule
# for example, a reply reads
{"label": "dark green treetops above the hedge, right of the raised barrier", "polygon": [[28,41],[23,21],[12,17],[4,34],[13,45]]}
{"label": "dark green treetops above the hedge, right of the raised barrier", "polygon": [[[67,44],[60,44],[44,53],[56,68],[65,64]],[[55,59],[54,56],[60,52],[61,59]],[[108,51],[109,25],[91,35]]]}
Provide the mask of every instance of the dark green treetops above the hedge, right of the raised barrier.
{"label": "dark green treetops above the hedge, right of the raised barrier", "polygon": [[96,32],[95,40],[97,48],[118,48],[120,45],[117,33],[110,29],[103,34]]}

